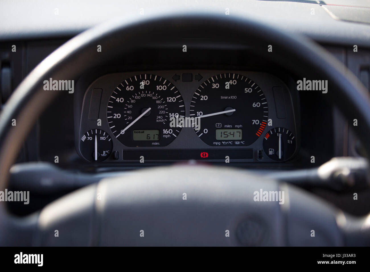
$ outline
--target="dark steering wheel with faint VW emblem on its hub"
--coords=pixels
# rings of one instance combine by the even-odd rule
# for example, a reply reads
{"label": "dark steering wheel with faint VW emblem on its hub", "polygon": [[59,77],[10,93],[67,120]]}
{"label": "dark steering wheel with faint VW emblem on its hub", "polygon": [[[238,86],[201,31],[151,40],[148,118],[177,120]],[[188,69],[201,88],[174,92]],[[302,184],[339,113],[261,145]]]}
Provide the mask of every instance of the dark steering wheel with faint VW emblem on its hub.
{"label": "dark steering wheel with faint VW emblem on its hub", "polygon": [[[370,154],[367,91],[313,41],[239,16],[157,13],[84,31],[31,71],[0,116],[0,188],[6,188],[34,122],[57,96],[43,90],[44,80],[73,79],[148,41],[171,42],[174,35],[189,42],[206,37],[212,43],[242,44],[297,74],[328,80],[324,96],[347,118],[358,120],[354,129]],[[255,201],[260,190],[284,192],[284,203]],[[370,245],[369,226],[365,217],[351,218],[292,185],[228,167],[158,167],[106,178],[24,218],[9,214],[0,202],[2,245]],[[55,237],[56,230],[63,239]]]}

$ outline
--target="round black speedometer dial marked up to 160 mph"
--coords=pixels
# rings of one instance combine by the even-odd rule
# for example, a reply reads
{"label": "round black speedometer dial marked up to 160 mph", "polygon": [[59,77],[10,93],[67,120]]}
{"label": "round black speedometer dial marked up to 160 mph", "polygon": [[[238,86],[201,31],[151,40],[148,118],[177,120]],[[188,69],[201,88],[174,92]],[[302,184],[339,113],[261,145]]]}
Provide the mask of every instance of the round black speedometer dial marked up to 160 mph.
{"label": "round black speedometer dial marked up to 160 mph", "polygon": [[112,134],[128,147],[171,143],[181,127],[170,127],[170,117],[185,117],[184,101],[172,83],[153,74],[122,81],[107,105]]}

